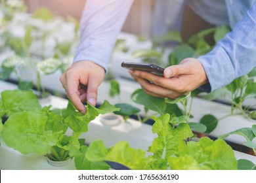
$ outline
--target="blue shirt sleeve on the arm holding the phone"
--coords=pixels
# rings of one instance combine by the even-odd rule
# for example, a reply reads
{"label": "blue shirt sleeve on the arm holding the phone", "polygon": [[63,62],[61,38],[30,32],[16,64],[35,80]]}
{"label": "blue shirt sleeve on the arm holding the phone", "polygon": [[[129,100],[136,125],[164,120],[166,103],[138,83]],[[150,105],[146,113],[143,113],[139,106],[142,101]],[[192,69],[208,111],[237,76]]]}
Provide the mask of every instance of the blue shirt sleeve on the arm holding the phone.
{"label": "blue shirt sleeve on the arm holding the phone", "polygon": [[256,66],[256,3],[211,52],[198,59],[209,80],[201,86],[206,92],[249,73]]}

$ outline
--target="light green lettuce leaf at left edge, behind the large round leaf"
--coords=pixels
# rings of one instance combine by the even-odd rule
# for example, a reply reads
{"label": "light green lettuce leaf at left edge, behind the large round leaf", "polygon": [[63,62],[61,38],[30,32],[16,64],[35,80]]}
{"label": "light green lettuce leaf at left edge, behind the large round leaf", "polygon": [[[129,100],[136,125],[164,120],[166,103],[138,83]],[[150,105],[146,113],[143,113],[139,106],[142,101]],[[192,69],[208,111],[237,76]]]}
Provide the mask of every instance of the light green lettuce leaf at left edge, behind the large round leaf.
{"label": "light green lettuce leaf at left edge, behind the large round leaf", "polygon": [[[10,97],[12,96],[12,97]],[[1,93],[3,107],[8,116],[16,112],[39,111],[41,105],[32,91],[28,90],[5,90]]]}

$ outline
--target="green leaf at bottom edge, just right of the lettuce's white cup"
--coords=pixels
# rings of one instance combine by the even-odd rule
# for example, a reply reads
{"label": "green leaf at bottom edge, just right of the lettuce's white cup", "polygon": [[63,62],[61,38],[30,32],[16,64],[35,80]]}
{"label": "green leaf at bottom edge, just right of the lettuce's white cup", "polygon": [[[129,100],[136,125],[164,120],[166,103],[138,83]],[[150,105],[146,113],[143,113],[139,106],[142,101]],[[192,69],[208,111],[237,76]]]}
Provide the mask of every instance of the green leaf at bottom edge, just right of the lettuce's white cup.
{"label": "green leaf at bottom edge, just right of the lettuce's white cup", "polygon": [[75,168],[77,170],[108,170],[110,165],[104,161],[93,162],[85,158],[87,146],[81,146],[80,152],[75,156]]}

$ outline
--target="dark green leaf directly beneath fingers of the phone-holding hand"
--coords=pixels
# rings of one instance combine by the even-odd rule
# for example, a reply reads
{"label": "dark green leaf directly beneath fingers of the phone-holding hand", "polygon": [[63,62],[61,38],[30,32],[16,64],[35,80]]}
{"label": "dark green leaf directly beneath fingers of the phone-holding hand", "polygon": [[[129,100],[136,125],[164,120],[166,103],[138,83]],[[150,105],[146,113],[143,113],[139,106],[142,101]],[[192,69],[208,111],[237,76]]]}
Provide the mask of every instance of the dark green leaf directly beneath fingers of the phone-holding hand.
{"label": "dark green leaf directly beneath fingers of the phone-holding hand", "polygon": [[165,99],[160,97],[152,97],[147,95],[142,89],[136,90],[132,93],[131,99],[144,107],[154,110],[160,114],[163,114],[166,110],[167,104]]}

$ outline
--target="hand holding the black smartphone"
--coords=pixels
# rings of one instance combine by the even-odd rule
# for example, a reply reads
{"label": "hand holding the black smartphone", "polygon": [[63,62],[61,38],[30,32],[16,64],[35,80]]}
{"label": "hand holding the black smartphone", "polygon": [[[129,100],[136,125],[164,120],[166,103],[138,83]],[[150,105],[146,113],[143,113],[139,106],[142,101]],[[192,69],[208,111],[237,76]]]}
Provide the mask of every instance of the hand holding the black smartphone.
{"label": "hand holding the black smartphone", "polygon": [[175,99],[208,82],[202,64],[196,58],[186,58],[157,76],[145,71],[129,71],[148,95]]}

